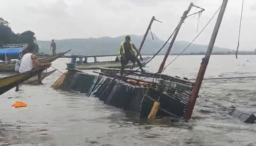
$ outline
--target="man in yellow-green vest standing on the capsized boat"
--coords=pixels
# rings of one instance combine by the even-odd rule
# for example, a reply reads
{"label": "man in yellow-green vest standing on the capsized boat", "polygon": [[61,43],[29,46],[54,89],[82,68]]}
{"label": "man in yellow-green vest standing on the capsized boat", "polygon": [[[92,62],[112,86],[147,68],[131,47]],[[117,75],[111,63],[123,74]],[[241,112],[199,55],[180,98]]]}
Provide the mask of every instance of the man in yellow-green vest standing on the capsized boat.
{"label": "man in yellow-green vest standing on the capsized boat", "polygon": [[125,42],[121,43],[121,47],[119,50],[119,55],[121,55],[121,71],[120,71],[120,75],[123,76],[124,74],[124,67],[125,65],[128,64],[129,61],[133,62],[137,62],[140,70],[142,72],[144,72],[143,68],[142,68],[142,64],[140,62],[140,60],[142,61],[142,55],[139,53],[140,55],[140,60],[138,58],[136,58],[136,54],[135,51],[137,53],[139,53],[138,49],[136,49],[135,45],[133,43],[131,43],[131,37],[128,35],[125,37]]}

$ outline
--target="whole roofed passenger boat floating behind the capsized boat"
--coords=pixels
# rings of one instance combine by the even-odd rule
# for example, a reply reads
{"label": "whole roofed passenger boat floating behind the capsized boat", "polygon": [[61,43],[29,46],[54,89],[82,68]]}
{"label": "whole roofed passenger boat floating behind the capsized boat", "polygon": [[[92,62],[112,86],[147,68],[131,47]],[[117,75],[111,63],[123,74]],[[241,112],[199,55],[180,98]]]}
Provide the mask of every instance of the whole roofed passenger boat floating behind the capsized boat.
{"label": "whole roofed passenger boat floating behind the capsized boat", "polygon": [[[97,57],[102,57],[105,55],[99,55],[99,56],[80,56],[80,55],[72,55],[70,58],[72,58],[71,63],[67,64],[68,69],[76,68],[76,69],[99,69],[99,68],[121,68],[120,61],[102,61],[98,62]],[[87,58],[93,57],[94,62],[87,62]],[[148,60],[150,60],[152,57],[144,57],[143,61],[141,61],[142,65],[144,65]],[[78,61],[76,61],[78,59]],[[84,61],[83,61],[84,60]],[[85,62],[85,63],[84,63]],[[132,62],[129,61],[129,63],[125,66],[125,68],[131,68]],[[139,65],[136,63],[135,67],[138,67]]]}

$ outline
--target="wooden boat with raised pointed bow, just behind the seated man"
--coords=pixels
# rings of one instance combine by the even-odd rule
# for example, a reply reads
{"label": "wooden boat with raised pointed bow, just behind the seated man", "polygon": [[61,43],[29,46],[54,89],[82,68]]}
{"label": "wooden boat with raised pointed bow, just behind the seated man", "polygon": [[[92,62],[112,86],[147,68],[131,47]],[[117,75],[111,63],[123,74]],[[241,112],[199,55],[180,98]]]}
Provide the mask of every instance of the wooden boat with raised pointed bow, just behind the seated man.
{"label": "wooden boat with raised pointed bow, just behind the seated man", "polygon": [[[71,49],[70,49],[71,50]],[[46,58],[39,58],[39,62],[40,63],[49,63],[49,62],[53,62],[54,60],[60,58],[62,55],[68,53],[70,50],[68,51],[65,51],[63,53],[59,53],[59,54],[56,54],[54,56],[49,56],[49,57],[46,57]],[[5,64],[0,64],[0,72],[14,72],[14,69],[15,69],[15,64],[16,62],[10,62],[10,63],[5,63]]]}

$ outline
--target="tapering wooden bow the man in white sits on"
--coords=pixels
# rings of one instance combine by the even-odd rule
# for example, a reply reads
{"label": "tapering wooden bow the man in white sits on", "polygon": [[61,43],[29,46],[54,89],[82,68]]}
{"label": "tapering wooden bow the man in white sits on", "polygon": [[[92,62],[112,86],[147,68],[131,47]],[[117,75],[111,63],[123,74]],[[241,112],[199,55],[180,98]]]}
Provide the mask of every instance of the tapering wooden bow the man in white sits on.
{"label": "tapering wooden bow the man in white sits on", "polygon": [[46,68],[33,70],[30,72],[14,74],[11,76],[0,78],[0,95],[9,91],[10,89],[16,87],[22,82],[29,80],[31,77],[34,77],[39,72],[45,70]]}

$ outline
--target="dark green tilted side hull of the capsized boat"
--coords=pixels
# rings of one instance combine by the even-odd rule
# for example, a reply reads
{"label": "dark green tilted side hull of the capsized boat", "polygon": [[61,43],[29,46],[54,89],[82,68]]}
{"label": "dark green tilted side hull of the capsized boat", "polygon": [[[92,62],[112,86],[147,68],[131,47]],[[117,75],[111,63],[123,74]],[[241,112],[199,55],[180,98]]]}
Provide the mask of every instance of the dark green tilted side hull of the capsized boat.
{"label": "dark green tilted side hull of the capsized boat", "polygon": [[[161,104],[155,116],[179,119],[184,115],[188,101],[185,93],[183,93],[183,99],[178,99],[176,91],[170,96],[161,92],[164,88],[156,90],[151,87],[134,86],[116,78],[76,70],[68,70],[52,85],[52,88],[78,91],[86,93],[88,97],[98,97],[105,104],[135,112],[139,118],[147,118],[154,102],[159,101]],[[185,89],[182,90],[185,91]]]}

